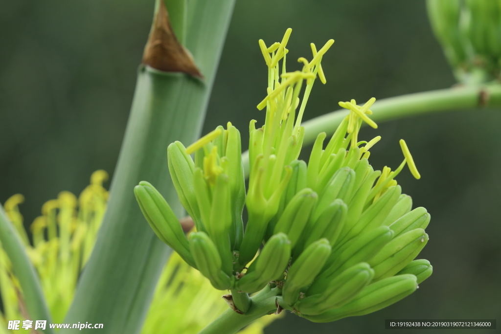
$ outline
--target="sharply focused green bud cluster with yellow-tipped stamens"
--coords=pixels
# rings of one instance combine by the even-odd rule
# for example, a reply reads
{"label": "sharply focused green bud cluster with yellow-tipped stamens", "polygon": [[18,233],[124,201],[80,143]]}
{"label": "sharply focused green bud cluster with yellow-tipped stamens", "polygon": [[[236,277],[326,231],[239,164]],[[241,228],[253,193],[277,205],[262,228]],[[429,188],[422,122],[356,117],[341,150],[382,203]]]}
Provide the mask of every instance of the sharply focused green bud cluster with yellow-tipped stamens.
{"label": "sharply focused green bud cluster with yellow-tipped stamens", "polygon": [[250,122],[247,191],[240,134],[228,123],[188,148],[169,146],[169,171],[196,227],[189,239],[152,185],[141,182],[135,194],[155,233],[217,289],[254,293],[271,284],[281,307],[333,321],[392,304],[431,274],[429,262],[414,260],[428,241],[430,215],[412,210],[395,180],[405,165],[420,177],[403,140],[396,170],[369,164],[381,137],[358,141],[358,134],[362,122],[377,128],[369,118],[374,98],[340,102],[349,113],[334,135],[324,145],[319,134],[308,164],[298,160],[306,102],[316,77],[326,82],[320,62],[334,41],[318,52],[312,44],[313,60],[300,58],[302,71],[289,73],[290,33],[270,47],[260,41],[268,95],[258,109],[266,107],[266,121]]}

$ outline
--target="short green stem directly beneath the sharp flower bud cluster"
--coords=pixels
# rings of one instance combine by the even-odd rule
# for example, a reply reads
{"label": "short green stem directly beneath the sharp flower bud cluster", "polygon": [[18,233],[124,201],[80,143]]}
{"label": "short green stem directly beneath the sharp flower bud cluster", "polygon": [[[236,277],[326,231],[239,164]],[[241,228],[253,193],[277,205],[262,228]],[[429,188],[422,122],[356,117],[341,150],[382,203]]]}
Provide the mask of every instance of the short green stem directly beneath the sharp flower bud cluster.
{"label": "short green stem directly beneath the sharp flower bud cluster", "polygon": [[228,308],[217,319],[212,321],[207,327],[203,328],[199,334],[233,334],[238,330],[259,319],[260,317],[271,314],[277,310],[275,303],[277,299],[277,288],[265,287],[258,294],[253,296],[252,304],[245,314],[240,314]]}

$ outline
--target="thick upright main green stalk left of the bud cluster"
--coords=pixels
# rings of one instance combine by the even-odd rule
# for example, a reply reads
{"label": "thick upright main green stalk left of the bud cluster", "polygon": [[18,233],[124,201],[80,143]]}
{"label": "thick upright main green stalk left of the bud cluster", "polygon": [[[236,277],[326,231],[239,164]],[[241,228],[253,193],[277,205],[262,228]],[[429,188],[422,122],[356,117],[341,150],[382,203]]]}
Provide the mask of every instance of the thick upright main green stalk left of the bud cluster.
{"label": "thick upright main green stalk left of the bud cluster", "polygon": [[141,330],[170,250],[145,221],[133,189],[142,180],[151,182],[183,215],[168,172],[167,145],[199,136],[233,5],[234,0],[189,2],[185,47],[203,79],[140,67],[108,208],[65,322],[103,323],[103,334]]}

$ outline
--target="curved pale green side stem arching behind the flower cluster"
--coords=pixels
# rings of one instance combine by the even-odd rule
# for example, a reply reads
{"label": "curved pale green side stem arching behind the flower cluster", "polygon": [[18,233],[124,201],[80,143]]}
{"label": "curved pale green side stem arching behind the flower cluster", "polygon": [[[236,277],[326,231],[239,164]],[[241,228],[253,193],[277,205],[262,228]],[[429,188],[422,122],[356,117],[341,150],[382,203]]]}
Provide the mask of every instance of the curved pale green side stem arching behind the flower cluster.
{"label": "curved pale green side stem arching behind the flower cluster", "polygon": [[[376,122],[447,110],[501,106],[501,85],[453,87],[436,91],[407,94],[379,100],[371,107],[371,119]],[[338,110],[303,123],[304,144],[315,141],[321,132],[332,134],[348,111]],[[249,173],[248,151],[242,154],[245,176]]]}

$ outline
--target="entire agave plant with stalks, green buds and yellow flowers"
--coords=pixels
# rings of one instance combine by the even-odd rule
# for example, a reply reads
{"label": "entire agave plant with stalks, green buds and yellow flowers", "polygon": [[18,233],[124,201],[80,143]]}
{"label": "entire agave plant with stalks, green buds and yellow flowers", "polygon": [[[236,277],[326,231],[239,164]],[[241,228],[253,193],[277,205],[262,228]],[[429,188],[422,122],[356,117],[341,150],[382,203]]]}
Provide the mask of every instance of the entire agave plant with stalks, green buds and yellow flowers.
{"label": "entire agave plant with stalks, green buds and yellow flowers", "polygon": [[[149,323],[166,326],[167,303],[193,305],[188,298],[200,301],[204,291],[229,290],[230,307],[202,329],[223,333],[283,309],[333,321],[412,293],[431,273],[429,262],[414,260],[428,240],[430,215],[412,210],[395,177],[406,164],[419,173],[404,141],[400,166],[374,170],[369,150],[379,137],[360,141],[358,134],[363,123],[501,105],[499,6],[446,2],[429,0],[429,14],[462,85],[362,105],[341,102],[342,110],[307,122],[306,103],[316,78],[326,82],[321,60],[333,41],[319,50],[312,45],[311,60],[300,58],[295,72],[285,66],[290,31],[280,43],[260,41],[268,85],[258,109],[266,108],[266,121],[250,122],[249,150],[242,153],[231,124],[197,140],[234,1],[157,0],[106,211],[103,204],[94,225],[57,232],[55,220],[40,219],[30,246],[17,211],[21,198],[6,203],[7,215],[0,210],[2,296],[14,305],[2,320],[103,323],[104,332],[135,334],[151,330]],[[303,144],[314,144],[308,163],[298,160]],[[52,202],[44,216],[80,219],[72,211],[77,202],[63,194],[58,205],[65,209]],[[179,225],[186,213],[196,228],[188,237]],[[47,235],[40,233],[45,228]],[[172,248],[177,255],[163,269]],[[181,288],[174,278],[183,270],[189,275]],[[204,286],[201,295],[189,285],[195,281]],[[187,297],[176,299],[184,294],[174,291]],[[209,307],[210,317],[218,307]],[[191,329],[188,318],[168,328],[198,330],[210,317],[196,316],[203,321]],[[244,330],[261,330],[263,323],[256,326]]]}

